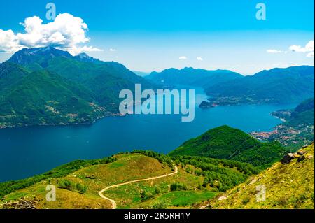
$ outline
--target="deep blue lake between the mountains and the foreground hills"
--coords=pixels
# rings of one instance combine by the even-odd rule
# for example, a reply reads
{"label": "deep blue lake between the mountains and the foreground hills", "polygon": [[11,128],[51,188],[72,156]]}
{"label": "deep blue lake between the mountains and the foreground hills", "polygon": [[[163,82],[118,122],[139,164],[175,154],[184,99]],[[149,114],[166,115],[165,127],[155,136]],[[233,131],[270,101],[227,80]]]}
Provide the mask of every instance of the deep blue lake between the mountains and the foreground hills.
{"label": "deep blue lake between the mountains and the foreground hills", "polygon": [[181,115],[106,117],[94,124],[0,129],[0,182],[43,173],[76,159],[97,159],[134,149],[167,153],[190,138],[228,124],[243,131],[271,131],[281,120],[270,113],[295,105],[244,105],[202,110],[196,89],[195,120]]}

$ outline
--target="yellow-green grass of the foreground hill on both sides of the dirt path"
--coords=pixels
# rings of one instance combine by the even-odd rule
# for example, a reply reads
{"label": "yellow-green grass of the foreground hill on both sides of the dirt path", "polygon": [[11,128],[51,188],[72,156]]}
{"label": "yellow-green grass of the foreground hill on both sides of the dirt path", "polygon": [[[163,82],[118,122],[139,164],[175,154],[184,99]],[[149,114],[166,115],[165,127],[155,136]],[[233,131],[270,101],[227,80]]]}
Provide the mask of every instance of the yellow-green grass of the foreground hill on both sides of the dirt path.
{"label": "yellow-green grass of the foreground hill on both sides of the dirt path", "polygon": [[[39,180],[34,185],[15,190],[10,194],[6,193],[7,195],[0,200],[0,208],[3,204],[7,208],[8,202],[20,202],[21,199],[36,203],[36,208],[111,208],[111,203],[101,199],[98,194],[104,187],[130,180],[165,175],[174,171],[170,167],[170,158],[165,155],[160,155],[159,159],[155,159],[135,152],[132,154],[118,154],[112,158],[116,159],[116,161],[113,161],[113,159],[107,160],[107,162],[112,161],[107,164],[99,164],[95,161],[90,161],[86,164],[82,163],[82,161],[76,163],[76,165],[68,164],[66,166],[69,166],[67,168],[69,170],[64,171],[66,174],[63,172],[59,173],[66,166],[64,168],[56,168],[56,171],[50,171],[51,173],[44,175],[43,178],[38,178]],[[162,161],[163,159],[165,161]],[[185,159],[183,160],[185,161]],[[181,162],[179,164],[179,161],[174,162],[179,167],[179,173],[176,173],[176,175],[112,188],[104,192],[104,195],[114,199],[118,208],[190,208],[193,204],[207,201],[217,194],[218,189],[211,187],[209,183],[202,186],[205,176],[207,177],[210,172],[202,171],[201,168],[188,163],[184,164]],[[221,172],[222,174],[230,173],[240,182],[244,182],[248,174],[242,172],[248,168],[249,171],[251,170],[251,167],[248,165],[232,163],[223,165],[221,161],[213,160],[212,164],[202,166],[202,168],[208,168],[209,171],[210,169],[218,171],[218,175]],[[52,178],[49,178],[50,174]],[[58,174],[61,175],[58,176]],[[87,191],[81,194],[77,190],[73,192],[57,187],[57,201],[45,201],[47,193],[45,187],[50,184],[58,186],[60,180],[69,180],[73,185],[86,186]],[[215,181],[218,182],[218,180],[224,179],[218,178]],[[33,182],[33,180],[26,180],[25,182],[29,181]],[[177,189],[177,191],[171,192],[171,186],[174,183],[184,185],[186,189],[184,191],[183,189]],[[222,181],[222,183],[224,182]],[[0,187],[0,192],[5,190],[6,186],[14,186],[15,184],[16,182],[2,183],[3,187]],[[181,196],[178,197],[178,195]]]}

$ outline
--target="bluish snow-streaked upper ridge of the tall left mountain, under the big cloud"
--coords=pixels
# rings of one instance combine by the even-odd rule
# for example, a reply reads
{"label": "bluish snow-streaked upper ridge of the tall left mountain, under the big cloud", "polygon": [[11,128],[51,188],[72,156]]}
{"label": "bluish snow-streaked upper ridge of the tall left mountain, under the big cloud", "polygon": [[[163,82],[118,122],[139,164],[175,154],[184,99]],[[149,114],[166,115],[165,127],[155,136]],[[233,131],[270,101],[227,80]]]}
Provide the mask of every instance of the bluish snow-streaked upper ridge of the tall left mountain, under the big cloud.
{"label": "bluish snow-streaked upper ridge of the tall left mountain, under the big cloud", "polygon": [[[84,81],[95,78],[98,75],[114,76],[134,83],[141,83],[148,87],[148,82],[132,73],[122,64],[116,62],[102,62],[99,59],[89,57],[85,53],[73,57],[69,52],[57,50],[52,47],[23,49],[9,59],[9,62],[19,64],[34,71],[48,69],[62,77],[73,81]],[[151,85],[152,86],[152,85]]]}

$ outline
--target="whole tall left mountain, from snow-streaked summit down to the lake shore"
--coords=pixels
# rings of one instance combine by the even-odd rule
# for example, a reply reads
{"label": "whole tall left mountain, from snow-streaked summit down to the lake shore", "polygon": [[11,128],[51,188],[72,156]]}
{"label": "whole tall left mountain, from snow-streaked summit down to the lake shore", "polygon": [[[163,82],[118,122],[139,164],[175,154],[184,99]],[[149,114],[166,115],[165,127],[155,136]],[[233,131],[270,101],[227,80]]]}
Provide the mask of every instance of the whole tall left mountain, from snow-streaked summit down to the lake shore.
{"label": "whole tall left mountain, from snow-streaked summit down to the lake shore", "polygon": [[56,48],[23,49],[0,64],[0,128],[91,123],[115,115],[122,89],[155,89],[122,64]]}

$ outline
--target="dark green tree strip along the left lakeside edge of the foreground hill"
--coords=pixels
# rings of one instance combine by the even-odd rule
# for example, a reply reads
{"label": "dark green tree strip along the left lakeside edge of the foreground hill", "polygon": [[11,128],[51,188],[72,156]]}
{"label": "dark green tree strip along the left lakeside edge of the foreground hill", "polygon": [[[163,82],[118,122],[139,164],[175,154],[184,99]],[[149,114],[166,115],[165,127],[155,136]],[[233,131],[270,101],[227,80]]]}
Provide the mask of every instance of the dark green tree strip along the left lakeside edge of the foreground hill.
{"label": "dark green tree strip along the left lakeside edge of the foreground hill", "polygon": [[[113,157],[106,157],[104,159],[94,159],[94,160],[77,160],[72,161],[69,164],[64,164],[62,166],[58,166],[57,168],[52,169],[46,173],[40,175],[34,175],[31,178],[27,178],[24,180],[13,180],[8,182],[0,182],[0,198],[5,196],[6,194],[10,194],[18,189],[23,189],[25,187],[29,187],[31,185],[36,184],[36,182],[40,182],[41,180],[47,180],[52,178],[62,178],[70,173],[78,171],[80,168],[86,166],[92,166],[97,164],[109,164],[113,161],[116,161]],[[64,185],[66,187],[66,185]],[[80,192],[85,192],[86,189],[83,187],[78,187]]]}

